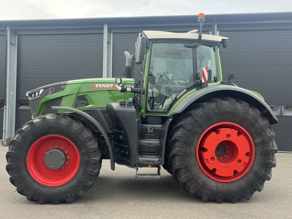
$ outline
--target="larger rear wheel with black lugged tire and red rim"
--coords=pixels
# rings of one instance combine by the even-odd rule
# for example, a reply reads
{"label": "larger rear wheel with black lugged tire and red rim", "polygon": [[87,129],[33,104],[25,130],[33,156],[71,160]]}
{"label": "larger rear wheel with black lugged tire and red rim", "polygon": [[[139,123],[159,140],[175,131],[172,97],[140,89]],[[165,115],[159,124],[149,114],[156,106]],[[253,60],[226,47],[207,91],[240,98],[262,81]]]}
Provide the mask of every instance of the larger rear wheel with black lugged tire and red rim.
{"label": "larger rear wheel with black lugged tire and red rim", "polygon": [[271,179],[275,135],[256,107],[228,97],[209,98],[176,121],[168,165],[191,195],[235,203],[250,199]]}

